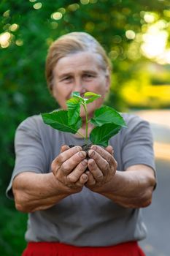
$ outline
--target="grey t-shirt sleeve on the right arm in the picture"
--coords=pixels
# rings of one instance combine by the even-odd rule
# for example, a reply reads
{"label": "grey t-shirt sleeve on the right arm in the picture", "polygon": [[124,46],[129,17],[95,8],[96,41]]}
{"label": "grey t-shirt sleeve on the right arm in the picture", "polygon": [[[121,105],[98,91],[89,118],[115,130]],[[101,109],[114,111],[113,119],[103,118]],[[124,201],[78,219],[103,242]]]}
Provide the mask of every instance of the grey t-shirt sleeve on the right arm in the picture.
{"label": "grey t-shirt sleeve on the right arm in the picture", "polygon": [[122,142],[123,170],[131,165],[148,165],[155,170],[150,124],[139,116],[131,116],[127,125]]}

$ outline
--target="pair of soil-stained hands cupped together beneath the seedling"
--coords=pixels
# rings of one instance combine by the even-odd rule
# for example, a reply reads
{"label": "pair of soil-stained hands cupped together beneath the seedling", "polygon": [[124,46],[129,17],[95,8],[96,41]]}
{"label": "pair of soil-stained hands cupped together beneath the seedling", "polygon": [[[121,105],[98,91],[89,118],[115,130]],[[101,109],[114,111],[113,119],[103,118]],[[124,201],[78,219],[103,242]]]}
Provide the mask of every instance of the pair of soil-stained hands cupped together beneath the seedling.
{"label": "pair of soil-stained hands cupped together beneath the seedling", "polygon": [[61,154],[53,160],[51,169],[66,193],[80,192],[84,185],[99,192],[115,176],[117,162],[113,157],[112,146],[101,148],[93,145],[88,151],[89,159],[86,157],[80,146],[69,148],[64,145]]}

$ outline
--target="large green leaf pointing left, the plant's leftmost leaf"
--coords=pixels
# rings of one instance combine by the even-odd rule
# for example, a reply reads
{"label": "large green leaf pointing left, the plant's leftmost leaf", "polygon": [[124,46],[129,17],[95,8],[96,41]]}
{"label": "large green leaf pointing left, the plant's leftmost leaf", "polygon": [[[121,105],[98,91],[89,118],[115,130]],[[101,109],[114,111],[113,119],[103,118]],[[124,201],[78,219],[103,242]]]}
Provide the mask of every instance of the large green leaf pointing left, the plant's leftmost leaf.
{"label": "large green leaf pointing left, the plant's leftmost leaf", "polygon": [[76,124],[69,124],[67,110],[55,110],[50,113],[42,113],[42,119],[45,124],[49,124],[54,129],[63,132],[71,132],[75,134],[82,126],[82,118],[78,118]]}

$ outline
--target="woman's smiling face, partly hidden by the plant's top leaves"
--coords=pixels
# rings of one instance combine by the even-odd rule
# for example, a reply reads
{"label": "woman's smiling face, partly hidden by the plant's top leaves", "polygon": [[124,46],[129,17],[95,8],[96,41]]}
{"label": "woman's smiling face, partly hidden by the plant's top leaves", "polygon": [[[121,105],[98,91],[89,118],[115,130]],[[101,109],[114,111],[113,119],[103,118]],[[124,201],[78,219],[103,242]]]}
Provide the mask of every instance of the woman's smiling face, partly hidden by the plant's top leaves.
{"label": "woman's smiling face, partly hidden by the plant's top leaves", "polygon": [[[61,108],[66,109],[66,101],[73,91],[83,95],[86,91],[101,94],[101,98],[88,104],[88,115],[93,116],[109,90],[109,75],[100,67],[100,57],[96,53],[79,52],[59,59],[53,69],[53,96]],[[85,117],[81,108],[80,116]]]}

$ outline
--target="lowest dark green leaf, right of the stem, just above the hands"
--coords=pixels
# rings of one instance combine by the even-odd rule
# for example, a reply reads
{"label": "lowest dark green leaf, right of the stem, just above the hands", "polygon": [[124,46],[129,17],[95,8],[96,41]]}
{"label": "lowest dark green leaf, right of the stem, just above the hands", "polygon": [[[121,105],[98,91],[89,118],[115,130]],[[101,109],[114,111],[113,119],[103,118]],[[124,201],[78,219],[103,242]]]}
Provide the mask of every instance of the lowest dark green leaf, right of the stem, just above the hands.
{"label": "lowest dark green leaf, right of the stem, just above the hands", "polygon": [[93,144],[107,147],[109,139],[120,131],[121,127],[117,124],[104,124],[96,127],[90,132],[90,141]]}

